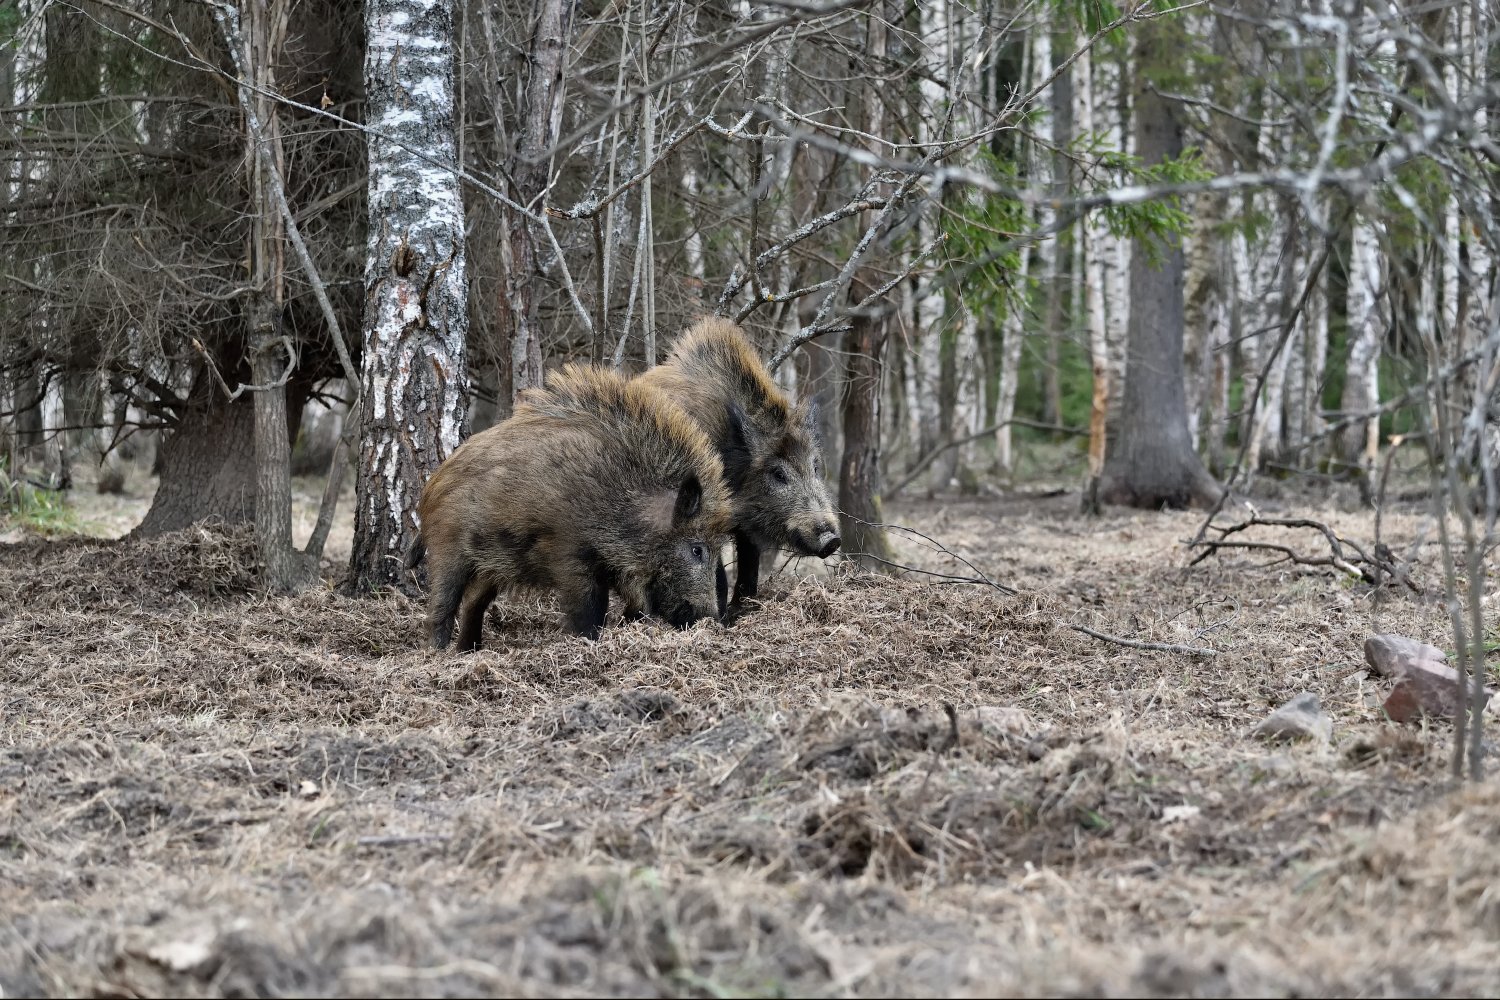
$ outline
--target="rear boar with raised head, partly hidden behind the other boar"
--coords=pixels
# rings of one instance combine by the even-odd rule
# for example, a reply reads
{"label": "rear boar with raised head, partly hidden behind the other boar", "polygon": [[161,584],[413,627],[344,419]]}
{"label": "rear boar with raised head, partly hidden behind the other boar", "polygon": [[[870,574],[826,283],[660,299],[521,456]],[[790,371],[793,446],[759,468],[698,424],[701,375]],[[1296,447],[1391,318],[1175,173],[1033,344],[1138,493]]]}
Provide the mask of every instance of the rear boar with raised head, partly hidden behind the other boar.
{"label": "rear boar with raised head, partly hidden behind the other boar", "polygon": [[718,448],[734,504],[736,606],[756,594],[762,550],[826,559],[838,549],[816,411],[794,406],[776,387],[738,325],[698,321],[636,382],[666,393]]}

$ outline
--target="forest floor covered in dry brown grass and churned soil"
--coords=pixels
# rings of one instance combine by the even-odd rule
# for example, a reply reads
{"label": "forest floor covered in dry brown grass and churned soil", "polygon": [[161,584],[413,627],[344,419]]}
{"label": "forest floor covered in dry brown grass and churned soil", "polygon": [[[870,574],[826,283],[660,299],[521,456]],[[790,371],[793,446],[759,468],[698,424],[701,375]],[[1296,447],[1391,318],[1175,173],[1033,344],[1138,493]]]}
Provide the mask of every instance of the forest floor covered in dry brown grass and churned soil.
{"label": "forest floor covered in dry brown grass and churned soil", "polygon": [[[1016,595],[790,567],[732,628],[591,643],[502,601],[466,657],[332,562],[261,594],[243,532],[20,537],[0,996],[1500,993],[1500,784],[1450,786],[1450,729],[1384,721],[1362,669],[1372,631],[1450,645],[1436,546],[1430,597],[1377,606],[1190,568],[1200,514],[1076,505],[890,507],[972,568],[910,534],[903,564]],[[1300,691],[1330,742],[1246,736]]]}

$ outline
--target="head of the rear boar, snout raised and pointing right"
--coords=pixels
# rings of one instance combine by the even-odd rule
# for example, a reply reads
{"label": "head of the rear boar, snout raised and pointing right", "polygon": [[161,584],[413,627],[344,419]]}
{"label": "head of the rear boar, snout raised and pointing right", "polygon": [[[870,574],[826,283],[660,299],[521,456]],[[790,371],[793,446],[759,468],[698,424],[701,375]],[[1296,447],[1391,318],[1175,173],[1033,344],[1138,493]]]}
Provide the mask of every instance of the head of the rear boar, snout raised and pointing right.
{"label": "head of the rear boar, snout raised and pointing right", "polygon": [[826,559],[838,550],[838,517],[824,481],[824,450],[818,441],[818,411],[798,408],[792,420],[765,433],[732,411],[730,456],[724,463],[735,490],[735,522],[741,531]]}

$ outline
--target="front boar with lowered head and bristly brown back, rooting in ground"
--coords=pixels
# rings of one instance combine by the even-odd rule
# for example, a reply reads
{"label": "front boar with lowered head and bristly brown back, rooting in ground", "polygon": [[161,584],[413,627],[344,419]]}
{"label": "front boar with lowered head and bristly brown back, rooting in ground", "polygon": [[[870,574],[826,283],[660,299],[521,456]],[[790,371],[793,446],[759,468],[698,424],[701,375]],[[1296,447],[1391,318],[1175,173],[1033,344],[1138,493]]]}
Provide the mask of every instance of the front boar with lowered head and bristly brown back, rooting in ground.
{"label": "front boar with lowered head and bristly brown back, rooting in ground", "polygon": [[717,616],[730,508],[708,438],[660,391],[568,366],[464,442],[428,481],[408,564],[428,556],[428,627],[478,649],[500,591],[556,591],[597,637],[609,592],[678,628]]}

